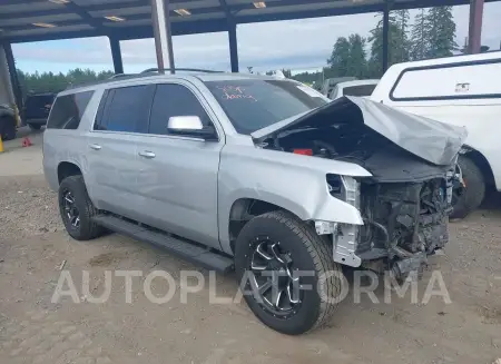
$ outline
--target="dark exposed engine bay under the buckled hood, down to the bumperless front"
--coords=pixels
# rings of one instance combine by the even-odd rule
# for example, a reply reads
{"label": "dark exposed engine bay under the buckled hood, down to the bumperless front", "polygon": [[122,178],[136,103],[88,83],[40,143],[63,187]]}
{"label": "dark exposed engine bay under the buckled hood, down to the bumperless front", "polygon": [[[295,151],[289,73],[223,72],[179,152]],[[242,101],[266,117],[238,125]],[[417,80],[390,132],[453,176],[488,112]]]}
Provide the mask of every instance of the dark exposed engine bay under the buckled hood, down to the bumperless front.
{"label": "dark exposed engine bay under the buckled hood, down to the bumperless front", "polygon": [[[267,148],[354,163],[373,175],[357,180],[364,225],[355,254],[362,262],[384,260],[403,277],[449,240],[455,158],[449,166],[431,164],[363,124],[292,130],[266,141]],[[332,196],[346,200],[342,177],[327,175],[326,181]]]}

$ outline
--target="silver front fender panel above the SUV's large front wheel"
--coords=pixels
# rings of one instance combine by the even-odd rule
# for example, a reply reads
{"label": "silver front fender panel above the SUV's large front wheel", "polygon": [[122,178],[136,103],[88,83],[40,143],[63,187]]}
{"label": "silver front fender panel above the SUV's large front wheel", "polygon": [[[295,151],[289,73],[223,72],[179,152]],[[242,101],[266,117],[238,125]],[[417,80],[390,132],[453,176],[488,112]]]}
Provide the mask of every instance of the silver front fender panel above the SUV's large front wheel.
{"label": "silver front fender panel above the SUV's large front wheel", "polygon": [[218,175],[219,239],[229,249],[229,214],[242,198],[262,200],[302,220],[363,225],[360,210],[328,191],[327,174],[351,177],[372,175],[355,164],[312,158],[255,147],[226,146]]}

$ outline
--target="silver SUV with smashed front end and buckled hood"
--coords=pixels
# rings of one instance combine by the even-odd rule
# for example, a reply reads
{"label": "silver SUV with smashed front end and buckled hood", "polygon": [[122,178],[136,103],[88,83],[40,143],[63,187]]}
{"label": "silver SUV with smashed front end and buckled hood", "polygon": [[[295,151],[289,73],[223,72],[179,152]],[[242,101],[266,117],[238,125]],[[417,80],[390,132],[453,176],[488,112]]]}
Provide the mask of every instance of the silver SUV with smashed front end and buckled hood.
{"label": "silver SUV with smashed front end and buckled hood", "polygon": [[235,269],[263,323],[301,334],[333,314],[342,265],[403,278],[445,245],[464,137],[292,80],[139,75],[59,94],[43,165],[75,239]]}

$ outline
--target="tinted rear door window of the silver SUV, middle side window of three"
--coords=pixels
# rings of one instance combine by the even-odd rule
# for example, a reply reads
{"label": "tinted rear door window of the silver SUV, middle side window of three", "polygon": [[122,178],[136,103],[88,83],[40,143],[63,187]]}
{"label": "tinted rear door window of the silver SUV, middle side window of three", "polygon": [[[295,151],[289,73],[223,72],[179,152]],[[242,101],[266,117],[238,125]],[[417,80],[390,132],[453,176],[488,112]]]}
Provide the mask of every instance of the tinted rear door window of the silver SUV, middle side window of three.
{"label": "tinted rear door window of the silver SUV, middle side window of three", "polygon": [[154,85],[111,89],[102,97],[95,130],[146,132]]}

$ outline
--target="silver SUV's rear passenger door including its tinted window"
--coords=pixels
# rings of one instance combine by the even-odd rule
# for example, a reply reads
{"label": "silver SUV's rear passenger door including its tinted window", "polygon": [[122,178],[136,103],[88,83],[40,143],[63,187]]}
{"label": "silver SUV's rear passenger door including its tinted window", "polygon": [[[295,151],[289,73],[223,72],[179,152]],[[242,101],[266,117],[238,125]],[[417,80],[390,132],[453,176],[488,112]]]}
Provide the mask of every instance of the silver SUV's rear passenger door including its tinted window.
{"label": "silver SUV's rear passenger door including its tinted window", "polygon": [[147,132],[155,85],[105,91],[88,138],[89,194],[100,209],[140,219],[137,141]]}

